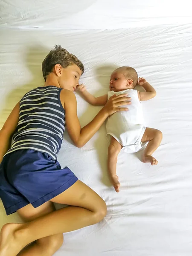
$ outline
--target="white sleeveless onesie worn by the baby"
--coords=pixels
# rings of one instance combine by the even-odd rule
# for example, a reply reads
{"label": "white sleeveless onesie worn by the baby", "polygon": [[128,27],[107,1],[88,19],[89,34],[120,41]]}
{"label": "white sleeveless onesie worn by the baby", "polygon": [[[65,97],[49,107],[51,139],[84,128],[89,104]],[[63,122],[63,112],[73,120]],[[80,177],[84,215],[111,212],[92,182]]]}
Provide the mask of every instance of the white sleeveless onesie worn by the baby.
{"label": "white sleeveless onesie worn by the baby", "polygon": [[110,142],[113,136],[123,146],[123,151],[134,153],[143,147],[141,139],[146,129],[143,125],[143,111],[137,90],[109,91],[108,99],[114,94],[122,93],[128,93],[128,97],[131,97],[131,105],[123,106],[129,108],[128,111],[119,111],[108,117],[106,121],[107,139]]}

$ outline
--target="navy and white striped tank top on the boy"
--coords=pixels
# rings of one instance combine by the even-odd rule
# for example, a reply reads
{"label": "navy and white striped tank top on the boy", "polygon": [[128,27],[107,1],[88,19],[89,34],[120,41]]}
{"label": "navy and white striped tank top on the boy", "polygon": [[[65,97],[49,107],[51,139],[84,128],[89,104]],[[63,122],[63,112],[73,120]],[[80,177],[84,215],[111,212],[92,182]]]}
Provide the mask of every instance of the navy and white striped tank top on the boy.
{"label": "navy and white striped tank top on the boy", "polygon": [[56,159],[65,130],[61,90],[47,86],[25,94],[20,101],[19,122],[12,146],[6,154],[19,149],[33,149]]}

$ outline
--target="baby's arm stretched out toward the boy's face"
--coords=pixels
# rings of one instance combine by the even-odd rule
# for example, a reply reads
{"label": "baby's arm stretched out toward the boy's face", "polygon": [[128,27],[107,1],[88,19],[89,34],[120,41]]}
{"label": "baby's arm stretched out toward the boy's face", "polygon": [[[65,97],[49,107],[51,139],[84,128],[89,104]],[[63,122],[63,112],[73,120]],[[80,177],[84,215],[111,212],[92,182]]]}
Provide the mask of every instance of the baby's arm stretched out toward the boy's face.
{"label": "baby's arm stretched out toward the boy's face", "polygon": [[104,106],[108,101],[108,95],[107,94],[96,98],[95,96],[93,96],[92,94],[87,92],[84,84],[79,85],[77,87],[77,89],[82,93],[84,99],[92,105]]}

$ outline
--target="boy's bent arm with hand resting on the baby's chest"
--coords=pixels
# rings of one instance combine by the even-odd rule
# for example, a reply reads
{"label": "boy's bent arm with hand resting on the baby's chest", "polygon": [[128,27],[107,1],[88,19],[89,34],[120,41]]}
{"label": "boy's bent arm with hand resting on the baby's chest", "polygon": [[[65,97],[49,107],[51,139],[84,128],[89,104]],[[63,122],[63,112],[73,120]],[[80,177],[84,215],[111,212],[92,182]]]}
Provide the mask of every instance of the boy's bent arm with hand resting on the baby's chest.
{"label": "boy's bent arm with hand resting on the baby's chest", "polygon": [[70,90],[61,90],[60,99],[61,103],[64,104],[66,128],[73,143],[79,148],[84,146],[99,130],[108,116],[111,116],[116,111],[128,110],[128,108],[121,108],[121,106],[127,105],[130,101],[130,98],[126,96],[127,94],[112,96],[93,120],[81,128],[77,117],[76,96]]}

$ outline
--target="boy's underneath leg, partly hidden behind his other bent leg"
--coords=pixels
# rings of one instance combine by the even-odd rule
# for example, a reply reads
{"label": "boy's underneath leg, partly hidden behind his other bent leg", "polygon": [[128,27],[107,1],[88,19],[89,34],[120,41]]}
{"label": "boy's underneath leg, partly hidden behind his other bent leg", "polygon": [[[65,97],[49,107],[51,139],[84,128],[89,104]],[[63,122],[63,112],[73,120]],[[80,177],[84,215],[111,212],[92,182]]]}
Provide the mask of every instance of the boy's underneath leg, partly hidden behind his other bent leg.
{"label": "boy's underneath leg, partly hidden behind his other bent leg", "polygon": [[[23,221],[33,221],[35,218],[55,211],[52,202],[46,202],[40,207],[34,208],[31,204],[17,211]],[[47,236],[25,247],[18,256],[52,256],[63,244],[63,234]]]}

